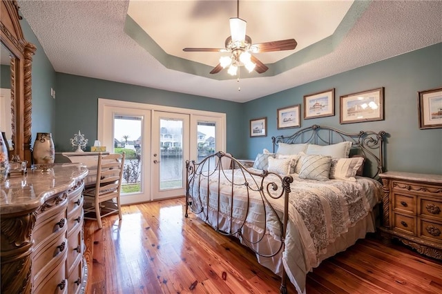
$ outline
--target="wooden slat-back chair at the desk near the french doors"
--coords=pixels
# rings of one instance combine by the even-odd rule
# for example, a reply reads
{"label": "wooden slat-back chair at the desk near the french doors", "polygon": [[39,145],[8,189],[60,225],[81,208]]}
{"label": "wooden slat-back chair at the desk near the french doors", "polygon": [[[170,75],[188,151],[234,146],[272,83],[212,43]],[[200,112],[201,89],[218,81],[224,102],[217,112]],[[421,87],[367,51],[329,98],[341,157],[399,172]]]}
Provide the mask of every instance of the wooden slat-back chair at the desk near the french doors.
{"label": "wooden slat-back chair at the desk near the french doors", "polygon": [[103,227],[102,217],[107,215],[118,213],[119,219],[122,219],[119,194],[125,157],[125,153],[99,154],[96,182],[84,189],[84,218],[96,219],[99,228]]}

